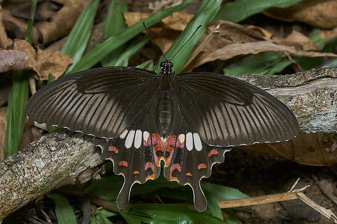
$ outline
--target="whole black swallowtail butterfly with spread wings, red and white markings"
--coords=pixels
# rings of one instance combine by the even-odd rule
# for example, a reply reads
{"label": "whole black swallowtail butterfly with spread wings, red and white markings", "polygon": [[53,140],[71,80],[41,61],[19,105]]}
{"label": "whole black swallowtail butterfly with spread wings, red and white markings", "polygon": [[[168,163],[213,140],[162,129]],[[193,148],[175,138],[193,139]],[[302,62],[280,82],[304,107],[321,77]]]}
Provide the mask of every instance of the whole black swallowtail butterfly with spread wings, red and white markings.
{"label": "whole black swallowtail butterfly with spread wings, red and white markings", "polygon": [[215,73],[178,74],[109,67],[78,72],[41,88],[25,113],[38,122],[94,135],[102,156],[124,176],[117,206],[125,209],[134,183],[160,174],[190,185],[198,211],[207,208],[200,180],[232,146],[289,140],[294,114],[265,91]]}

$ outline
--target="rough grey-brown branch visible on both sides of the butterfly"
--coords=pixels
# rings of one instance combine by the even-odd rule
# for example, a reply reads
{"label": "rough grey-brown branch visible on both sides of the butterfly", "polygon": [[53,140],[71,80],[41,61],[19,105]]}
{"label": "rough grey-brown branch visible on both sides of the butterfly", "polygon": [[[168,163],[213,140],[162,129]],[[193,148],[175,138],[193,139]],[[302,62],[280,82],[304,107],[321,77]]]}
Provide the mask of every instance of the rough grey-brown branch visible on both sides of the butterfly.
{"label": "rough grey-brown branch visible on both sides of the butterfly", "polygon": [[[337,69],[284,76],[238,77],[284,102],[302,133],[337,132]],[[58,187],[99,178],[104,160],[92,137],[59,129],[0,160],[0,222]]]}

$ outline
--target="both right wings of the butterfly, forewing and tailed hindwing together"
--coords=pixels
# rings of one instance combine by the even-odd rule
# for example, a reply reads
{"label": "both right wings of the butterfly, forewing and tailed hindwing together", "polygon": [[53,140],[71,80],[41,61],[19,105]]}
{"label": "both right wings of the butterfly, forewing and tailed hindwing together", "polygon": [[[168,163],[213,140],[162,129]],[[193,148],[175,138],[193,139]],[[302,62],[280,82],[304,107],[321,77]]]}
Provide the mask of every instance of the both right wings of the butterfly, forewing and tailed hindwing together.
{"label": "both right wings of the butterfly, forewing and tailed hindwing together", "polygon": [[192,187],[198,211],[207,208],[200,180],[211,175],[214,163],[224,161],[229,146],[285,141],[299,132],[294,114],[284,104],[232,77],[177,75],[171,93],[164,176]]}

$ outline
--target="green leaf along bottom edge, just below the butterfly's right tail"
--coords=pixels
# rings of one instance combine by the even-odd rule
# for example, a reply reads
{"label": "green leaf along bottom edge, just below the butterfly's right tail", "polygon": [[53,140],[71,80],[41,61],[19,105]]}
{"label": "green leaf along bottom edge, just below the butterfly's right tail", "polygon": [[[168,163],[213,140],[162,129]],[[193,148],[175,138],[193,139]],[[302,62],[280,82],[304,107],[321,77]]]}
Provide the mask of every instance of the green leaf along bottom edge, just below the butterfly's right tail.
{"label": "green leaf along bottom edge, just below the butterfly's right tail", "polygon": [[[207,212],[197,212],[190,210],[186,206],[176,205],[141,205],[132,206],[123,210],[122,214],[127,214],[134,220],[145,223],[179,224],[179,223],[199,223],[199,224],[224,224],[225,222],[212,216]],[[124,216],[123,216],[124,217]]]}

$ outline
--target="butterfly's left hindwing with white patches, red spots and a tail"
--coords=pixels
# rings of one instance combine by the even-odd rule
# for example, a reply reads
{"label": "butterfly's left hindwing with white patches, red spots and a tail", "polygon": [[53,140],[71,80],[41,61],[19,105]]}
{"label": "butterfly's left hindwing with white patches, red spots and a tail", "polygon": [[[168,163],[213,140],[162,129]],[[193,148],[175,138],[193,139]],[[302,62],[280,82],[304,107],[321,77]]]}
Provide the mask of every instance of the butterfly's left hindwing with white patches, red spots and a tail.
{"label": "butterfly's left hindwing with white patches, red spots and a tail", "polygon": [[[156,179],[160,174],[160,160],[164,149],[159,118],[156,116],[158,93],[149,104],[148,112],[131,124],[116,138],[95,138],[102,148],[102,157],[113,162],[116,175],[124,176],[124,184],[117,197],[119,209],[128,205],[131,187]],[[158,128],[159,127],[159,128]]]}

